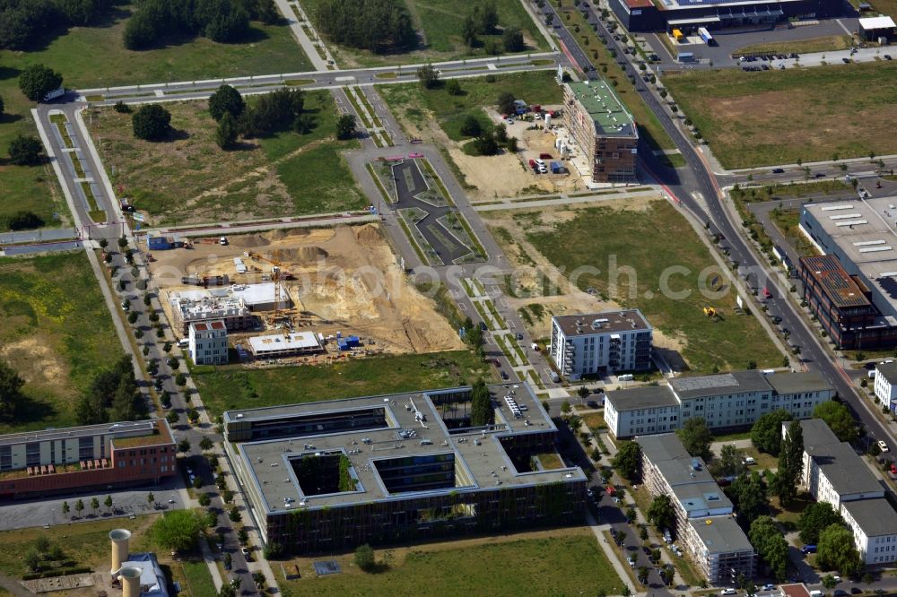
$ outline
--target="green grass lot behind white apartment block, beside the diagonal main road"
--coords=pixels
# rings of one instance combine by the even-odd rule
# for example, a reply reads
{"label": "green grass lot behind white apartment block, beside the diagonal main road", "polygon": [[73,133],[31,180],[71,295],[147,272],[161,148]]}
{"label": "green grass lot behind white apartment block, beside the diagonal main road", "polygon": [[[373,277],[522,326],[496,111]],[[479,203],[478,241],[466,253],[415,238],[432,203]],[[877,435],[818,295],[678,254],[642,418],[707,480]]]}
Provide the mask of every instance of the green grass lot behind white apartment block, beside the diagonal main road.
{"label": "green grass lot behind white apartment block, beside the diagonal main road", "polygon": [[[699,280],[705,268],[712,266],[705,273],[706,286],[714,276],[720,285],[726,279],[707,247],[669,203],[655,200],[644,211],[587,208],[556,223],[550,216],[543,221],[541,212],[514,212],[513,217],[520,229],[528,230],[527,239],[562,272],[570,275],[583,268],[576,278],[580,290],[595,288],[624,307],[639,307],[667,339],[679,343],[678,350],[695,372],[742,369],[752,360],[759,367],[781,362],[779,350],[759,322],[734,312],[735,292],[720,286],[721,297],[701,294]],[[632,238],[641,241],[632,243]],[[614,258],[619,275],[611,271]],[[621,271],[627,267],[635,274]],[[669,269],[674,267],[680,273],[669,278],[670,291],[659,291],[662,276],[675,272]],[[617,285],[613,294],[611,281]],[[676,293],[681,298],[674,298]],[[705,316],[706,306],[715,307],[718,318]]]}

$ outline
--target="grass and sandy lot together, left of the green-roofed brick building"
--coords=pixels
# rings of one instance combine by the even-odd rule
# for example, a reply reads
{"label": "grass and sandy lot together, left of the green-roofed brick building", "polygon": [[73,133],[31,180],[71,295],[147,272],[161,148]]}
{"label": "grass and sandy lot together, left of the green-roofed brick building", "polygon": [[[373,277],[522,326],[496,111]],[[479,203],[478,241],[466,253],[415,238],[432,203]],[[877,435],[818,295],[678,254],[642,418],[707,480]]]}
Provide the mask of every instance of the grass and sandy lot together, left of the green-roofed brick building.
{"label": "grass and sandy lot together, left of the green-roofed brick building", "polygon": [[[508,152],[495,156],[470,156],[458,143],[463,139],[460,126],[467,116],[474,116],[483,125],[492,126],[492,117],[487,112],[494,116],[493,107],[502,91],[509,91],[515,98],[524,99],[529,104],[551,106],[562,102],[561,87],[549,71],[499,74],[492,81],[486,77],[461,80],[464,94],[457,96],[450,95],[444,88],[426,91],[418,84],[380,85],[377,91],[407,134],[446,149],[449,164],[455,165],[455,176],[466,186],[472,200],[551,191],[548,178],[542,178],[544,188],[539,187],[536,178],[527,172],[518,156]],[[527,123],[518,122],[508,127],[508,133],[530,143],[532,140],[527,135],[536,136],[537,132],[524,131],[526,127]]]}

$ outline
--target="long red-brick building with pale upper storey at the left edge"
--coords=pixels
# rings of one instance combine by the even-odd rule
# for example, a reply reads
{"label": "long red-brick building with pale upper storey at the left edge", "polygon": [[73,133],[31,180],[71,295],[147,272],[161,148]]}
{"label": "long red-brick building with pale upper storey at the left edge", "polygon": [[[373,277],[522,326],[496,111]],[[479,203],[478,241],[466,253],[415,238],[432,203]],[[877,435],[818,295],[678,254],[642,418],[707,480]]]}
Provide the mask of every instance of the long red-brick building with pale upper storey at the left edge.
{"label": "long red-brick building with pale upper storey at the left edge", "polygon": [[164,419],[0,436],[0,497],[157,485],[175,474]]}

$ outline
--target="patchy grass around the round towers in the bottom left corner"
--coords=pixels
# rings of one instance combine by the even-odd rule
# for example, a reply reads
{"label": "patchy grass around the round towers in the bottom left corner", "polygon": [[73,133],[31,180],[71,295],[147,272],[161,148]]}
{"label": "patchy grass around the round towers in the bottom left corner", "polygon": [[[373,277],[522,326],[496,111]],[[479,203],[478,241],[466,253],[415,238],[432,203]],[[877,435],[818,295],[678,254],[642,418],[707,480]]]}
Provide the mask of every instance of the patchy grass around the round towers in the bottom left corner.
{"label": "patchy grass around the round towers in the bottom left corner", "polygon": [[[62,500],[60,500],[60,504]],[[69,502],[71,505],[72,502]],[[94,572],[109,576],[109,531],[126,528],[130,532],[131,553],[152,551],[159,559],[159,564],[171,583],[178,582],[184,594],[191,597],[213,597],[215,595],[212,575],[200,558],[187,557],[174,560],[167,549],[161,548],[150,537],[149,529],[159,515],[139,516],[135,520],[104,520],[90,523],[74,523],[57,526],[49,530],[30,528],[17,531],[0,532],[0,541],[5,549],[0,553],[0,572],[13,578],[20,578],[25,572],[23,555],[34,544],[39,536],[47,537],[51,543],[63,549],[66,558],[75,561],[77,566],[93,567]],[[92,595],[96,589],[66,592],[66,595]]]}

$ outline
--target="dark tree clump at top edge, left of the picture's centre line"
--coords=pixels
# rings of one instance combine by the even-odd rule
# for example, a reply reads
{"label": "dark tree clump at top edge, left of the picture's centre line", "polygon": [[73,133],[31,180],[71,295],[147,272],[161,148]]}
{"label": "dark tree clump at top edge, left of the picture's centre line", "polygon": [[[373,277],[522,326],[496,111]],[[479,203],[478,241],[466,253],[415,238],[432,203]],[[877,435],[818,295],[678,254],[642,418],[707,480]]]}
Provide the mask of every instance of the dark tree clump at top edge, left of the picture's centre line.
{"label": "dark tree clump at top edge, left of the picture's centre line", "polygon": [[352,48],[386,54],[417,45],[411,16],[401,0],[323,0],[314,17],[323,35]]}

